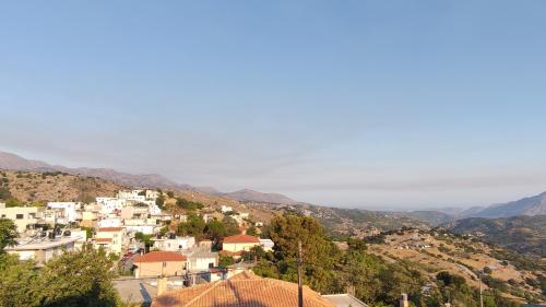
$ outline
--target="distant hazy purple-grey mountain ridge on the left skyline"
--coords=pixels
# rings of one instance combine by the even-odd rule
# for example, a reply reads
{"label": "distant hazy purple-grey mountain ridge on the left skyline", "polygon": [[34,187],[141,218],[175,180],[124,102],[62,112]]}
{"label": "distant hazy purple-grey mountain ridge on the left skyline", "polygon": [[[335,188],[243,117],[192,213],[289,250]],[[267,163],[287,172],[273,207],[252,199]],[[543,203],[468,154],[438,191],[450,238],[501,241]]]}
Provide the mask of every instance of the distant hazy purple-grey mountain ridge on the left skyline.
{"label": "distant hazy purple-grey mountain ridge on the left skyline", "polygon": [[13,153],[0,151],[0,169],[5,170],[32,170],[32,172],[62,172],[71,175],[96,177],[127,187],[147,187],[161,189],[194,190],[213,196],[224,196],[239,201],[295,203],[296,201],[278,193],[261,193],[244,189],[236,192],[223,193],[211,187],[194,187],[178,184],[158,174],[129,174],[111,168],[70,168],[60,165],[51,165],[43,161],[27,160]]}

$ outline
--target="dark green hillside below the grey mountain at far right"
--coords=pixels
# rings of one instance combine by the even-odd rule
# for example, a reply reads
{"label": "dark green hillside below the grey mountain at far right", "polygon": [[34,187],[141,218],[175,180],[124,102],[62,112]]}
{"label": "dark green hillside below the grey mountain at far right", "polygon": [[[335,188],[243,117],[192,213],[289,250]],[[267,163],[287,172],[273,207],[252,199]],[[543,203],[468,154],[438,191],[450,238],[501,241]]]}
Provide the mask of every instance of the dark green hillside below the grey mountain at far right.
{"label": "dark green hillside below the grey mountain at far right", "polygon": [[546,215],[503,219],[470,217],[442,225],[459,234],[483,236],[518,252],[546,257]]}

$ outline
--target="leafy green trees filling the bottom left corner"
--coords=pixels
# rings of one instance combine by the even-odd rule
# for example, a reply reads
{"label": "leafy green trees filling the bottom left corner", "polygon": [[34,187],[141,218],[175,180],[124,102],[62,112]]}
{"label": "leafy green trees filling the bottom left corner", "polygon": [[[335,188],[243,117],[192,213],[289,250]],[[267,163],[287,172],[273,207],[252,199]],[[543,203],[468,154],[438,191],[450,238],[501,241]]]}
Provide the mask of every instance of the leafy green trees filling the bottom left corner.
{"label": "leafy green trees filling the bottom left corner", "polygon": [[0,306],[120,306],[111,283],[114,262],[104,250],[85,246],[64,252],[37,270],[32,261],[0,255]]}

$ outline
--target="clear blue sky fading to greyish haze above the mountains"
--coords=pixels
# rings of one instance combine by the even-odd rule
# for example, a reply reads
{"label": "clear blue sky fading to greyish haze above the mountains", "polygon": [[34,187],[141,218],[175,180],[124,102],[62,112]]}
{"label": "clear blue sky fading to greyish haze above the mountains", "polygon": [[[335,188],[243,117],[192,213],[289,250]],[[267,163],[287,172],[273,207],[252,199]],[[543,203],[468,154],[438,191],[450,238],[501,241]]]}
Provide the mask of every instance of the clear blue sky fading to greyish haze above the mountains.
{"label": "clear blue sky fading to greyish haze above the mountains", "polygon": [[546,1],[0,1],[0,150],[353,208],[546,190]]}

